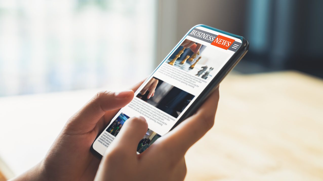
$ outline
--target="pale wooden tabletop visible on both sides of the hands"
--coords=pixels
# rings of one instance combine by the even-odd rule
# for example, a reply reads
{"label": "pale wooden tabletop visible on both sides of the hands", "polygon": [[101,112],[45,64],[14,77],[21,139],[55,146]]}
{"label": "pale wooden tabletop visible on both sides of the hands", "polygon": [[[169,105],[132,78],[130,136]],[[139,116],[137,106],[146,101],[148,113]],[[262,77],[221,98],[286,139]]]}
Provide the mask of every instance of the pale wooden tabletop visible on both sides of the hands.
{"label": "pale wooden tabletop visible on both sides of the hands", "polygon": [[[39,162],[97,91],[0,98],[0,157],[13,173]],[[231,73],[220,86],[214,127],[187,152],[186,180],[323,180],[322,130],[322,80]]]}

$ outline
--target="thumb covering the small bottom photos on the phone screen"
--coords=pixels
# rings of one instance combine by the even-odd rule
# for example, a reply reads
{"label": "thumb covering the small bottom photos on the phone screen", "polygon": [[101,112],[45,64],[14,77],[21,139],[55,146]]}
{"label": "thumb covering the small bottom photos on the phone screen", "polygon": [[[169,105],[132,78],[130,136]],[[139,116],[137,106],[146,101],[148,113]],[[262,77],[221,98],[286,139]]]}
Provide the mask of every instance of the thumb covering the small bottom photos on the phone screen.
{"label": "thumb covering the small bottom photos on the phone screen", "polygon": [[145,136],[147,130],[148,124],[144,117],[132,117],[123,124],[110,146],[124,154],[136,154],[138,143]]}

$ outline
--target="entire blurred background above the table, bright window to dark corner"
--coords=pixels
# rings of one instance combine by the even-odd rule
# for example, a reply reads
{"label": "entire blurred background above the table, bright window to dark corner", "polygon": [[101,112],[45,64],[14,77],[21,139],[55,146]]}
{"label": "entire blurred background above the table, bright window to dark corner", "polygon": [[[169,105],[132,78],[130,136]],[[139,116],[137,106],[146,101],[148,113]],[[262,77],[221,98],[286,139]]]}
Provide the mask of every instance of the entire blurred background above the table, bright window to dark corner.
{"label": "entire blurred background above the table, bright window to dark corner", "polygon": [[295,69],[323,77],[323,46],[316,43],[323,41],[322,5],[316,0],[198,5],[194,0],[1,0],[0,96],[129,85],[149,75],[196,24],[249,40],[238,72]]}

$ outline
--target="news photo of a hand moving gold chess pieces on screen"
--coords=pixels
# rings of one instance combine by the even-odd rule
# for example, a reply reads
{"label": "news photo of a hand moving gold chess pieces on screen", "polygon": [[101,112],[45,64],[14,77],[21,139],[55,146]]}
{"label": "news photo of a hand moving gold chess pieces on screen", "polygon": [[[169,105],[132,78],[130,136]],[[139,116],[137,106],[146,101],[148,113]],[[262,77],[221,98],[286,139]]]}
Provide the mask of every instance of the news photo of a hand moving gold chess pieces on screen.
{"label": "news photo of a hand moving gold chess pieces on screen", "polygon": [[[194,53],[196,50],[197,53]],[[203,79],[212,79],[226,61],[224,52],[185,39],[166,63]],[[215,70],[214,70],[215,69]]]}

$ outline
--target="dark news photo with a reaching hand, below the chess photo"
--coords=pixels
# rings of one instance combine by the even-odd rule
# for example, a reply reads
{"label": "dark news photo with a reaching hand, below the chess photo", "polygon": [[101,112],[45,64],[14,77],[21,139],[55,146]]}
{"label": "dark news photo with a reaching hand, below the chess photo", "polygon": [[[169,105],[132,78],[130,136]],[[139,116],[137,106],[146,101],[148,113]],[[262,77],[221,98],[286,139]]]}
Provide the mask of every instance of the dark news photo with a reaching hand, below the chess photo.
{"label": "dark news photo with a reaching hand, below the chess photo", "polygon": [[152,77],[136,97],[177,118],[194,95]]}

